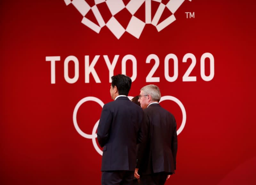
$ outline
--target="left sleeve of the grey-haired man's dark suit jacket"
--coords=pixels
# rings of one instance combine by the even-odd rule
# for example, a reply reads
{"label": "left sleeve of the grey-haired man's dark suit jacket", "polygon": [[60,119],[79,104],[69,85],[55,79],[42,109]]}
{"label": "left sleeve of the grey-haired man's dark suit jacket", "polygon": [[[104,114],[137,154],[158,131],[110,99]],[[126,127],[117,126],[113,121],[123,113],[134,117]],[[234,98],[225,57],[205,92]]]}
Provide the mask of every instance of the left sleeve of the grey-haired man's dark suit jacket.
{"label": "left sleeve of the grey-haired man's dark suit jacket", "polygon": [[143,121],[141,124],[141,143],[137,146],[137,159],[136,159],[136,168],[140,168],[141,160],[143,158],[148,139],[149,139],[149,119],[148,115],[143,112]]}

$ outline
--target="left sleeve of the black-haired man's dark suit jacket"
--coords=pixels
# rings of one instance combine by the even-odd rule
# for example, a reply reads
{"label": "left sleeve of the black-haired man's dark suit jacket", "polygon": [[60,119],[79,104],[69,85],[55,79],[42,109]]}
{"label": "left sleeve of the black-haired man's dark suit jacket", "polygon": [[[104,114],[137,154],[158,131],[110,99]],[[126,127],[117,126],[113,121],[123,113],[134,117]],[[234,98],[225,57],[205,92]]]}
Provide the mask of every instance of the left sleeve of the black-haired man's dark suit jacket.
{"label": "left sleeve of the black-haired man's dark suit jacket", "polygon": [[97,129],[97,139],[101,147],[108,142],[109,129],[111,127],[113,115],[105,105],[102,108],[100,122]]}

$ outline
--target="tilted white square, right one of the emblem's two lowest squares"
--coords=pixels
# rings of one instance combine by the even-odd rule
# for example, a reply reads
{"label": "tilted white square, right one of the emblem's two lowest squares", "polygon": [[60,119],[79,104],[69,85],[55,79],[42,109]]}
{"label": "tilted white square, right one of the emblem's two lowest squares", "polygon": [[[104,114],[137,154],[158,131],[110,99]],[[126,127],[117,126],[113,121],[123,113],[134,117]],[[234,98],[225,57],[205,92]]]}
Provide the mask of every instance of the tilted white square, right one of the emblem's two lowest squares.
{"label": "tilted white square, right one of the emblem's two lowest squares", "polygon": [[140,38],[140,34],[143,31],[144,27],[145,27],[145,22],[141,21],[140,19],[138,19],[137,17],[132,16],[126,31],[135,36],[137,39]]}

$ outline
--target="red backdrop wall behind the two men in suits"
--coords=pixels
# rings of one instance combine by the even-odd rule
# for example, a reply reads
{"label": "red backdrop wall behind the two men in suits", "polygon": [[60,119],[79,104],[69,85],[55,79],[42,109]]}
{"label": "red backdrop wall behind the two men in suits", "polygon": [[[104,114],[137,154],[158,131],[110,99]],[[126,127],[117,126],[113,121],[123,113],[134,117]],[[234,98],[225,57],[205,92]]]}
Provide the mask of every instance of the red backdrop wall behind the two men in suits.
{"label": "red backdrop wall behind the two men in suits", "polygon": [[[122,73],[122,60],[125,62],[128,55],[126,74],[134,75],[129,96],[138,95],[145,85],[156,84],[162,96],[176,97],[184,105],[186,122],[178,135],[177,170],[166,184],[254,184],[255,4],[185,0],[174,13],[176,20],[160,32],[146,24],[139,38],[128,29],[117,38],[107,26],[99,27],[92,10],[85,16],[77,11],[75,2],[79,3],[0,3],[1,184],[100,184],[101,155],[92,139],[79,134],[73,114],[84,97],[93,96],[103,104],[112,101],[111,73],[104,55],[110,63],[119,55],[114,74]],[[89,7],[95,4],[93,0],[87,3]],[[167,3],[162,1],[160,7]],[[151,2],[152,19],[159,4]],[[107,23],[112,17],[107,3],[97,7]],[[134,14],[139,22],[146,21],[145,9],[144,2]],[[170,15],[165,8],[159,23]],[[83,17],[98,25],[99,34],[81,23]],[[124,8],[114,17],[125,29],[132,15]],[[139,26],[133,28],[139,30]],[[204,53],[210,53],[213,60],[201,62]],[[159,77],[158,82],[146,81],[156,63],[146,63],[150,54],[159,58],[153,74]],[[165,66],[168,54],[177,59],[170,59]],[[86,74],[93,71],[92,61],[97,55],[94,70],[100,83],[92,73],[89,78]],[[77,58],[77,66],[72,60],[68,62],[69,56]],[[86,66],[85,56],[89,56],[91,68]],[[132,69],[129,56],[135,58],[136,68]],[[184,56],[195,58],[182,62]],[[54,68],[47,57],[59,59],[55,74],[51,74]],[[189,76],[195,76],[196,81],[195,77],[193,81],[183,80],[194,64]],[[165,71],[169,71],[167,78]],[[71,80],[65,80],[64,73]],[[166,80],[168,76],[174,76],[172,82]],[[160,104],[174,114],[180,127],[185,119],[180,106],[171,100]],[[83,133],[92,134],[100,113],[96,102],[81,104],[76,120]]]}

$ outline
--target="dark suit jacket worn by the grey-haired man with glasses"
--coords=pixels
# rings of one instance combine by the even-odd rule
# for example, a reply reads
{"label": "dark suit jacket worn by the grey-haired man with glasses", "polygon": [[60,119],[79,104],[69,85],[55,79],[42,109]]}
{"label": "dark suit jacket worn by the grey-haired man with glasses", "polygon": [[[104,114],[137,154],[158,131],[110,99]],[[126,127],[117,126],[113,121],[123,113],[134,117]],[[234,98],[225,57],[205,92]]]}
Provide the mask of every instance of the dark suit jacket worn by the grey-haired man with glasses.
{"label": "dark suit jacket worn by the grey-haired man with glasses", "polygon": [[176,170],[177,131],[173,115],[159,104],[144,109],[147,119],[147,139],[138,145],[137,166],[139,174],[158,172],[174,173]]}

